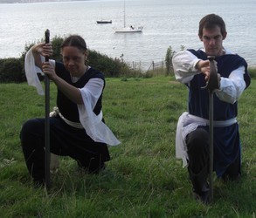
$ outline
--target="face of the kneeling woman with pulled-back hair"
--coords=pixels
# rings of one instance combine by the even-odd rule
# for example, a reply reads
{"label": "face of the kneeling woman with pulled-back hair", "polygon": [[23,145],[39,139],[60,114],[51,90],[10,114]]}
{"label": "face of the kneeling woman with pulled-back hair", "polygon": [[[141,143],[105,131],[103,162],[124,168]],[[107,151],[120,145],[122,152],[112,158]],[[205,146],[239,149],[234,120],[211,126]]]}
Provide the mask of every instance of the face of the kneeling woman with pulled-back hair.
{"label": "face of the kneeling woman with pulled-back hair", "polygon": [[83,53],[77,47],[66,46],[62,49],[62,57],[66,70],[73,77],[80,77],[86,72],[86,51]]}

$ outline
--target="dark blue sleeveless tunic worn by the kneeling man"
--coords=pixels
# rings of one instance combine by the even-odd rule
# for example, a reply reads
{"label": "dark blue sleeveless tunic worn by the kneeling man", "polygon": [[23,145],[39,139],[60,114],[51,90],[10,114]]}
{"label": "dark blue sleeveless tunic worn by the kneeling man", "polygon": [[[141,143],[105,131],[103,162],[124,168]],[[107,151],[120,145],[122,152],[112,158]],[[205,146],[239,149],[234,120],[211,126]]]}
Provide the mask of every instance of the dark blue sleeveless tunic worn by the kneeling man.
{"label": "dark blue sleeveless tunic worn by the kneeling man", "polygon": [[[204,51],[189,50],[197,58],[206,60],[207,55]],[[223,78],[228,78],[232,71],[240,66],[245,66],[246,73],[244,79],[246,87],[250,85],[251,78],[247,72],[247,64],[244,58],[235,54],[227,54],[215,58],[218,63],[218,73]],[[189,112],[198,117],[209,119],[209,92],[201,89],[205,85],[204,75],[202,73],[195,75],[188,85],[189,92]],[[227,103],[213,96],[213,119],[227,120],[237,117],[238,102],[234,104]],[[209,131],[208,126],[206,130]],[[238,123],[227,127],[214,127],[214,170],[221,176],[225,173],[226,168],[234,162],[238,157],[240,158],[240,139],[239,139],[239,125]]]}

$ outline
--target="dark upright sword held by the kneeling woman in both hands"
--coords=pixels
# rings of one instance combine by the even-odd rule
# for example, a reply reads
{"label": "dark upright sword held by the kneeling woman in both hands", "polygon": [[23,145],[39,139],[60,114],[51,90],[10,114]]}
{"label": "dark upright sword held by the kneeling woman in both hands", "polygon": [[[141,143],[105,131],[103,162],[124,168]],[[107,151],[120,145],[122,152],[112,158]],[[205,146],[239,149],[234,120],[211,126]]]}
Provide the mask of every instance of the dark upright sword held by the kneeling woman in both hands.
{"label": "dark upright sword held by the kneeling woman in both hands", "polygon": [[[50,42],[50,31],[45,31],[45,44]],[[49,57],[45,57],[45,62]],[[45,187],[50,187],[50,79],[45,75]]]}

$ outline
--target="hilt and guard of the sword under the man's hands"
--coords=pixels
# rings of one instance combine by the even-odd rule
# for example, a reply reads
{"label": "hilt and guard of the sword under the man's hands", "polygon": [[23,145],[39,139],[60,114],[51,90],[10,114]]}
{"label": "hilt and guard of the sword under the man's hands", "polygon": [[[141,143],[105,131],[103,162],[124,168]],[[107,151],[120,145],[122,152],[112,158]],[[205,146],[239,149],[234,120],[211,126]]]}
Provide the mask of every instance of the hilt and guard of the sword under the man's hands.
{"label": "hilt and guard of the sword under the man's hands", "polygon": [[208,56],[210,61],[210,75],[209,79],[203,89],[208,89],[209,92],[214,92],[215,90],[219,90],[219,79],[218,79],[218,70],[215,65],[215,57]]}

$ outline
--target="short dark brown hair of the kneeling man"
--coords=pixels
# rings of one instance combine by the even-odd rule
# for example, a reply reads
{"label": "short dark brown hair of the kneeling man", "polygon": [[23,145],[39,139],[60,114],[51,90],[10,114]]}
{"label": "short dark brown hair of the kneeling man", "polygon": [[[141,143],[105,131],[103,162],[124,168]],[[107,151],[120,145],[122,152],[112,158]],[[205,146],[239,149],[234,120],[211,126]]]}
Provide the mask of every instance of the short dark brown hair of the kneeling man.
{"label": "short dark brown hair of the kneeling man", "polygon": [[203,36],[203,29],[212,29],[214,27],[218,26],[220,28],[222,36],[225,36],[225,22],[222,19],[222,17],[219,17],[216,14],[209,14],[204,16],[200,22],[199,22],[199,30],[198,35],[200,37]]}

